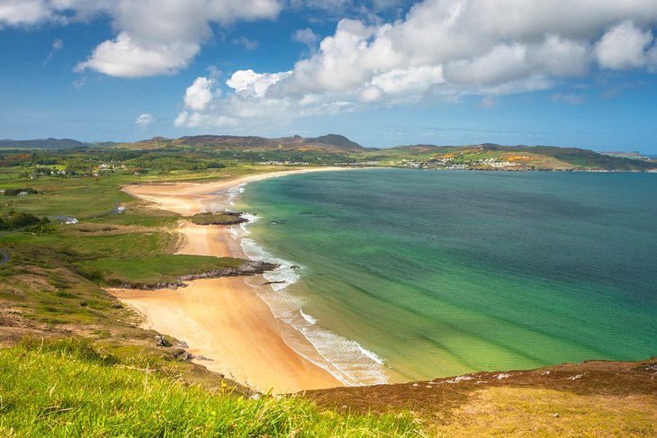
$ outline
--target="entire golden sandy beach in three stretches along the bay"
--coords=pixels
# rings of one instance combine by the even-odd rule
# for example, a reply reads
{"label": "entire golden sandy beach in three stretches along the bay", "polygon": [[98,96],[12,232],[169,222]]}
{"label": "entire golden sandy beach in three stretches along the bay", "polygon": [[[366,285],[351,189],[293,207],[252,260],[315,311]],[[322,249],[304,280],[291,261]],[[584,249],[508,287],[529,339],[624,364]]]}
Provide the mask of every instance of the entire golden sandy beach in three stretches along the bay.
{"label": "entire golden sandy beach in three stretches along the bay", "polygon": [[[214,183],[129,185],[123,190],[155,202],[160,209],[190,216],[221,203],[225,206],[226,192],[240,184],[328,170],[337,169],[256,174]],[[194,225],[181,220],[176,231],[184,237],[176,254],[244,256],[228,227]],[[139,311],[144,317],[144,327],[175,336],[189,345],[190,353],[212,359],[194,362],[253,389],[285,393],[342,386],[329,371],[285,344],[281,332],[290,332],[290,327],[272,315],[244,278],[196,280],[187,284],[178,290],[113,289],[110,292]]]}

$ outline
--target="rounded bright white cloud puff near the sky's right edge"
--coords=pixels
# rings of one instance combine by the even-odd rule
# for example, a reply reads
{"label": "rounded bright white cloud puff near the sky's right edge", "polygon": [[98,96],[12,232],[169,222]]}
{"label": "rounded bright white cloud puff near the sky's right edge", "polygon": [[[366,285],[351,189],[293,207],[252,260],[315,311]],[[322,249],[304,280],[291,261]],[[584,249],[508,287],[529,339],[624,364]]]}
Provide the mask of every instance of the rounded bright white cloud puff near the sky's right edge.
{"label": "rounded bright white cloud puff near the sky's right edge", "polygon": [[645,49],[653,42],[653,32],[642,31],[626,20],[611,28],[596,45],[600,67],[625,69],[644,67]]}

